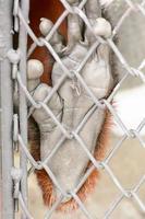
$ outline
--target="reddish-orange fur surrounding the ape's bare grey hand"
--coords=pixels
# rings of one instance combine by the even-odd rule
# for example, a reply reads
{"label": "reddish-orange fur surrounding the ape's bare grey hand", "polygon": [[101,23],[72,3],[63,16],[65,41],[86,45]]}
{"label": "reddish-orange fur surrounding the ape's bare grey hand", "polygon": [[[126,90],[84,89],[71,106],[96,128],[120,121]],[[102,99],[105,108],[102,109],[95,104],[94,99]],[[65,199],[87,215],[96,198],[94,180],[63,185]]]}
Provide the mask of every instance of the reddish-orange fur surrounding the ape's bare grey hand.
{"label": "reddish-orange fur surrounding the ape's bare grey hand", "polygon": [[[105,1],[104,1],[105,3]],[[60,1],[55,0],[31,0],[31,27],[37,36],[40,36],[39,20],[40,18],[48,19],[52,22],[56,22],[60,14],[64,11],[63,5]],[[43,21],[43,20],[41,20]],[[68,22],[67,20],[60,26],[60,33],[64,37],[64,42],[68,41]],[[87,35],[87,34],[86,34]],[[87,36],[86,36],[87,37]],[[32,41],[28,39],[28,47],[31,46]],[[110,57],[112,56],[109,55]],[[109,57],[109,58],[110,58]],[[52,59],[51,55],[48,53],[46,47],[37,47],[34,53],[31,55],[29,59],[38,59],[44,65],[44,73],[41,76],[40,81],[45,82],[49,85],[52,84],[51,82],[51,71],[53,68],[55,60]],[[110,61],[110,60],[109,60]],[[113,60],[111,59],[113,62]],[[112,65],[111,65],[112,66]],[[112,69],[111,69],[112,71]],[[109,88],[106,97],[109,96],[112,89],[114,88],[116,82],[112,80],[111,88]],[[97,161],[102,161],[106,154],[107,147],[109,145],[109,134],[110,134],[110,126],[112,124],[111,114],[108,110],[105,110],[104,119],[101,122],[101,129],[98,132],[95,150],[94,150],[94,158]],[[29,143],[31,143],[31,153],[36,161],[40,161],[40,131],[36,120],[31,116],[28,122],[28,135],[29,135]],[[85,172],[92,166],[92,163],[88,162],[87,166],[85,168]],[[43,192],[43,198],[46,206],[50,207],[55,203],[53,196],[53,183],[49,177],[48,173],[45,170],[36,170],[35,174],[37,176],[38,184]],[[99,171],[95,169],[90,175],[87,177],[86,182],[83,184],[81,189],[77,192],[77,196],[82,201],[86,199],[86,197],[93,193],[95,185],[99,178]],[[64,203],[61,203],[58,207],[58,210],[68,211],[77,209],[77,203],[71,198]]]}

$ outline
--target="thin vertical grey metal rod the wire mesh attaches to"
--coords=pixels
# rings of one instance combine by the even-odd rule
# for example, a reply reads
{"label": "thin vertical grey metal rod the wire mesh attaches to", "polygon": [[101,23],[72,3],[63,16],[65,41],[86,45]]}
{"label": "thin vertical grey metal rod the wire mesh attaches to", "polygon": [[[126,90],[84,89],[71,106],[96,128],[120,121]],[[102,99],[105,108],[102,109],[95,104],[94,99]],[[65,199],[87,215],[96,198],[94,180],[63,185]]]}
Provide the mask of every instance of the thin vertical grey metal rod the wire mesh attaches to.
{"label": "thin vertical grey metal rod the wire mesh attaches to", "polygon": [[[26,22],[28,22],[28,12],[29,12],[29,0],[21,1],[21,9]],[[21,61],[20,61],[20,73],[22,77],[23,84],[26,85],[26,61],[27,61],[27,31],[24,25],[20,25],[20,37],[19,37],[19,48],[21,50]],[[21,136],[27,146],[27,100],[24,91],[20,88],[20,132]],[[24,154],[24,151],[20,149],[21,152],[21,168],[23,170],[23,176],[21,181],[22,195],[27,205],[27,158]],[[26,216],[22,215],[22,218],[25,219]]]}

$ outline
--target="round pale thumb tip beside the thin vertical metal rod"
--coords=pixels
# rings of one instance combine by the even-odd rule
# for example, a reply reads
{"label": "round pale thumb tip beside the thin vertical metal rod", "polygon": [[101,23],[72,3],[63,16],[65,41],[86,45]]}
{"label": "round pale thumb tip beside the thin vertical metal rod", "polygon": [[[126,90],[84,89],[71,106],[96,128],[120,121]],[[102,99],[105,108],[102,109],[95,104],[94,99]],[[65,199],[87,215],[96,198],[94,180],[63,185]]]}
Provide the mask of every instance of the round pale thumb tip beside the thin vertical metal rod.
{"label": "round pale thumb tip beside the thin vertical metal rod", "polygon": [[44,65],[37,59],[29,59],[27,61],[27,78],[38,79],[44,73]]}

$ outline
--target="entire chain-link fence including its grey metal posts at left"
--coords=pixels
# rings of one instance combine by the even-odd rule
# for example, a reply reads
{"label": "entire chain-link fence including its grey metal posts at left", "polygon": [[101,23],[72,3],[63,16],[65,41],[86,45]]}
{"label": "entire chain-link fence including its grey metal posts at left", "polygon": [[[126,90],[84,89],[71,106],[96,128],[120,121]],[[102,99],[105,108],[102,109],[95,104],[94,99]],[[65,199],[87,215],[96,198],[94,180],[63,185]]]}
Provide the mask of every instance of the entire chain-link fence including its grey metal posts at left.
{"label": "entire chain-link fence including its grey metal posts at left", "polygon": [[[96,41],[88,48],[88,51],[84,59],[80,62],[77,69],[73,72],[69,70],[69,68],[62,62],[61,56],[56,53],[56,49],[50,43],[51,37],[59,28],[60,24],[70,15],[75,14],[81,18],[84,25],[93,34],[94,30],[90,25],[89,19],[84,12],[84,7],[87,3],[87,0],[80,1],[78,5],[71,5],[67,0],[60,0],[64,7],[64,11],[57,20],[52,28],[49,31],[46,37],[37,37],[33,30],[29,27],[28,21],[28,12],[29,12],[29,1],[28,0],[4,0],[0,1],[0,91],[1,91],[1,212],[3,219],[12,219],[15,218],[15,211],[20,206],[22,218],[32,219],[33,216],[28,210],[28,198],[27,198],[27,178],[29,177],[29,170],[27,170],[27,163],[29,162],[32,168],[31,170],[43,170],[47,172],[49,177],[52,181],[52,184],[60,192],[60,197],[50,209],[46,212],[45,218],[51,218],[51,215],[58,209],[60,204],[64,198],[72,197],[80,209],[84,214],[84,218],[92,218],[92,214],[86,209],[84,203],[78,197],[77,192],[87,180],[87,177],[94,172],[95,169],[98,169],[100,172],[104,170],[109,177],[111,178],[114,186],[119,189],[120,195],[117,199],[112,199],[112,203],[106,209],[106,214],[102,218],[109,218],[116,210],[116,208],[120,205],[123,198],[134,199],[136,205],[140,207],[142,212],[145,212],[145,203],[138,195],[140,189],[144,186],[145,175],[141,176],[141,180],[135,184],[135,186],[126,189],[120,182],[120,180],[116,176],[116,173],[111,170],[109,162],[114,157],[117,151],[122,147],[123,142],[126,139],[136,138],[143,147],[145,148],[145,142],[140,135],[142,129],[145,126],[145,118],[142,122],[138,122],[138,126],[136,129],[128,129],[122,119],[119,117],[114,106],[112,105],[112,100],[116,94],[119,92],[121,85],[125,82],[128,77],[141,79],[141,81],[145,82],[145,76],[142,71],[145,66],[145,61],[143,60],[138,68],[134,68],[130,66],[130,64],[125,60],[123,54],[120,53],[118,46],[113,43],[113,38],[119,32],[120,27],[125,22],[126,18],[131,13],[140,13],[145,16],[145,1],[143,0],[140,3],[133,3],[130,0],[124,0],[124,4],[126,5],[126,11],[121,14],[119,21],[117,21],[114,28],[112,30],[112,34],[108,38],[96,37]],[[113,1],[111,2],[113,4]],[[98,5],[99,7],[99,5]],[[100,9],[99,9],[100,10]],[[13,48],[13,34],[14,32],[19,33],[17,37],[17,48]],[[33,39],[33,44],[27,51],[27,35]],[[81,71],[86,65],[89,57],[98,48],[98,45],[108,45],[111,50],[114,53],[114,58],[118,58],[118,61],[122,66],[124,70],[124,74],[121,80],[116,84],[112,92],[106,99],[98,100],[95,94],[92,92],[86,81],[81,76]],[[56,85],[51,89],[47,97],[43,102],[36,102],[34,96],[27,89],[27,59],[33,54],[35,48],[39,46],[45,46],[53,59],[59,64],[62,69],[62,74]],[[77,127],[73,130],[68,130],[65,126],[63,126],[58,117],[53,114],[51,108],[49,107],[49,102],[55,95],[55,93],[62,87],[67,78],[73,78],[75,76],[81,87],[85,90],[85,92],[90,97],[93,107],[87,112],[84,118],[77,124]],[[14,113],[14,93],[19,93],[19,103],[17,103],[17,114]],[[27,103],[31,105],[27,111]],[[98,161],[94,158],[94,155],[88,150],[86,142],[82,139],[80,131],[83,126],[88,122],[89,117],[93,116],[94,112],[98,108],[107,108],[111,115],[113,116],[118,126],[123,130],[123,136],[117,142],[109,154],[102,160]],[[53,146],[52,150],[49,152],[48,157],[43,161],[35,161],[33,155],[28,150],[27,142],[27,115],[31,116],[34,110],[45,111],[48,116],[55,122],[55,124],[59,127],[61,131],[61,138],[58,139],[57,145]],[[57,175],[53,174],[49,165],[47,165],[50,159],[53,159],[53,155],[59,150],[61,145],[64,143],[67,139],[75,139],[78,146],[84,150],[87,159],[93,163],[88,168],[88,170],[84,173],[84,176],[80,178],[76,187],[73,191],[65,192],[62,188],[60,183],[57,180]],[[14,151],[20,151],[20,168],[14,168]],[[70,154],[71,157],[71,154]],[[140,163],[138,163],[140,166]],[[96,204],[97,205],[97,204]],[[97,212],[96,212],[97,215]]]}

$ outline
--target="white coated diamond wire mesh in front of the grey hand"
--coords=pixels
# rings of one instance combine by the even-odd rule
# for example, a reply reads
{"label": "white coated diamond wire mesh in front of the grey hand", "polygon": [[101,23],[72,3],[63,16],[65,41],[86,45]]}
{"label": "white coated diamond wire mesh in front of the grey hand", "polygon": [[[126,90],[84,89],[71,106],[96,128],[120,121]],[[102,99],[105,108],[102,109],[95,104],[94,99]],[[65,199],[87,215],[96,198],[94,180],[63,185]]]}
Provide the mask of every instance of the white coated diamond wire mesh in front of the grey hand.
{"label": "white coated diamond wire mesh in front of the grey hand", "polygon": [[[14,4],[13,5],[14,7],[14,10],[13,10],[14,30],[20,33],[20,37],[19,37],[19,49],[17,50],[10,49],[9,53],[10,54],[12,53],[15,56],[15,58],[10,58],[10,61],[12,64],[12,82],[13,82],[13,85],[14,84],[19,85],[19,91],[20,91],[19,95],[20,95],[21,101],[19,103],[20,104],[19,105],[20,114],[19,114],[19,116],[17,115],[13,116],[13,139],[12,139],[12,141],[13,141],[14,148],[16,148],[17,145],[20,146],[21,164],[20,164],[20,169],[13,169],[12,166],[10,166],[12,169],[12,178],[13,178],[13,183],[14,183],[14,185],[12,187],[13,188],[14,205],[9,205],[8,210],[10,208],[13,208],[13,210],[14,210],[14,208],[16,208],[16,205],[20,204],[23,218],[33,219],[33,216],[31,215],[31,212],[28,210],[28,206],[27,206],[27,177],[28,177],[27,176],[27,162],[29,161],[29,163],[32,164],[34,170],[45,169],[45,171],[48,173],[48,175],[50,176],[53,184],[61,192],[60,199],[57,200],[57,203],[55,203],[55,205],[51,207],[51,209],[46,212],[46,217],[45,217],[46,219],[51,218],[52,212],[58,208],[61,200],[64,197],[69,197],[69,196],[72,196],[75,199],[75,201],[78,204],[80,209],[84,214],[84,218],[89,218],[89,219],[92,218],[93,219],[93,217],[90,216],[90,212],[86,209],[85,205],[81,201],[81,199],[78,198],[78,196],[76,194],[77,194],[80,187],[83,185],[83,183],[88,177],[88,175],[94,171],[94,169],[99,169],[99,170],[104,169],[104,171],[106,171],[106,173],[109,175],[112,183],[114,184],[114,186],[117,186],[117,188],[120,191],[120,194],[121,194],[120,196],[117,197],[117,199],[112,200],[112,203],[110,204],[108,209],[106,209],[106,214],[104,215],[102,218],[111,217],[112,212],[120,205],[121,200],[124,197],[128,198],[128,199],[134,199],[136,205],[141,208],[141,210],[143,212],[145,212],[145,204],[143,203],[143,200],[141,199],[141,197],[138,195],[141,187],[144,186],[145,175],[141,176],[141,180],[138,181],[138,183],[134,187],[126,189],[125,187],[123,187],[120,180],[116,176],[116,173],[111,170],[111,168],[109,165],[109,162],[113,158],[116,152],[122,147],[123,142],[129,138],[136,138],[138,140],[140,145],[141,145],[141,147],[143,147],[143,149],[145,149],[145,142],[144,142],[142,136],[141,136],[141,131],[145,127],[145,118],[143,118],[143,120],[138,124],[138,127],[136,129],[128,129],[128,127],[124,125],[122,119],[119,117],[116,108],[113,108],[113,106],[111,104],[113,97],[119,92],[120,87],[124,83],[124,81],[126,80],[126,78],[129,76],[131,76],[132,78],[140,78],[141,81],[143,82],[143,84],[145,82],[145,76],[142,72],[142,69],[145,66],[145,61],[143,60],[137,69],[130,66],[130,64],[125,60],[123,54],[121,54],[118,46],[113,43],[113,38],[114,38],[116,34],[118,34],[120,27],[125,22],[125,19],[131,13],[136,13],[136,12],[138,13],[140,12],[143,16],[145,16],[145,0],[143,0],[141,3],[133,3],[130,0],[124,0],[124,4],[128,5],[128,9],[126,9],[126,11],[123,12],[120,20],[117,22],[117,24],[116,24],[116,26],[112,31],[111,37],[107,38],[107,39],[104,39],[101,37],[97,37],[96,43],[94,43],[92,45],[92,47],[89,48],[89,50],[87,53],[87,56],[85,57],[83,62],[81,62],[78,69],[74,72],[75,77],[77,78],[77,80],[80,81],[82,87],[84,87],[84,89],[87,91],[90,99],[94,101],[94,107],[88,112],[86,117],[84,117],[84,119],[81,122],[81,124],[77,126],[77,128],[75,130],[71,131],[71,132],[69,132],[62,126],[62,124],[58,120],[58,118],[53,115],[53,113],[51,112],[51,110],[47,105],[47,103],[53,96],[55,92],[62,85],[65,78],[71,76],[71,72],[64,66],[64,64],[61,61],[61,58],[59,57],[59,55],[55,51],[53,47],[51,46],[50,38],[56,33],[56,31],[58,30],[60,24],[63,22],[63,20],[67,19],[67,16],[70,13],[77,14],[83,20],[83,22],[85,23],[85,25],[89,30],[92,30],[92,26],[89,24],[87,16],[84,14],[84,11],[83,11],[83,8],[84,8],[87,0],[82,0],[80,2],[78,7],[71,7],[67,2],[67,0],[60,0],[60,1],[63,4],[65,10],[60,15],[60,18],[57,20],[57,22],[55,23],[53,27],[48,33],[48,35],[44,38],[37,37],[34,34],[33,30],[29,27],[29,24],[28,24],[28,10],[29,10],[28,5],[29,5],[29,2],[28,2],[28,0],[22,0],[21,2],[19,0],[15,0],[13,2],[13,4]],[[111,4],[113,4],[113,1],[111,2]],[[19,23],[21,23],[20,28],[19,28]],[[29,35],[29,37],[34,42],[32,44],[31,48],[28,49],[28,53],[27,53],[27,47],[26,47],[26,45],[27,45],[27,34]],[[87,87],[87,84],[85,83],[85,81],[83,80],[83,78],[80,74],[81,69],[84,67],[87,59],[90,57],[93,51],[96,49],[96,47],[98,45],[98,41],[99,41],[99,44],[107,43],[110,46],[110,48],[113,50],[116,57],[118,58],[118,60],[120,61],[121,66],[123,67],[124,71],[125,71],[123,78],[118,82],[118,84],[113,89],[110,96],[108,99],[101,100],[101,102],[99,102],[96,99],[96,96],[93,94],[93,92],[89,90],[89,88]],[[28,90],[26,88],[26,61],[27,61],[27,58],[31,56],[31,54],[34,51],[34,49],[37,46],[45,46],[49,50],[49,53],[52,55],[55,60],[57,62],[59,62],[59,65],[61,66],[61,68],[63,70],[63,74],[60,78],[59,82],[52,88],[51,92],[45,99],[45,101],[40,102],[40,103],[35,102],[35,100],[33,99],[33,96],[31,95],[31,93],[28,92]],[[10,55],[9,57],[12,57],[12,56]],[[28,150],[28,147],[27,147],[27,131],[26,131],[27,130],[27,101],[29,101],[33,108],[40,108],[40,107],[44,108],[46,111],[46,113],[59,126],[59,128],[62,132],[62,138],[58,141],[57,146],[53,147],[53,150],[50,152],[50,154],[46,158],[45,161],[38,161],[38,162],[35,161],[34,158],[32,157],[29,150]],[[3,106],[1,105],[1,108]],[[117,142],[117,145],[110,151],[109,155],[104,161],[100,161],[100,162],[95,160],[93,154],[88,151],[85,142],[80,137],[81,128],[84,126],[85,123],[87,123],[88,117],[94,113],[94,111],[96,111],[97,107],[107,107],[108,111],[112,114],[113,118],[116,119],[118,126],[123,131],[123,136],[122,136],[121,140],[119,142]],[[28,112],[28,113],[31,115],[32,111]],[[19,127],[19,124],[20,124],[20,127]],[[3,138],[3,136],[1,136],[1,138]],[[75,138],[78,141],[80,147],[82,147],[84,149],[85,153],[87,154],[87,157],[89,158],[89,160],[92,161],[92,163],[94,165],[85,173],[83,178],[81,178],[78,185],[76,186],[76,188],[74,191],[70,191],[69,193],[65,193],[61,188],[57,177],[51,172],[49,166],[46,165],[46,163],[49,161],[50,158],[53,157],[56,151],[59,149],[59,147],[61,147],[61,145],[65,141],[65,139],[72,139],[72,138]],[[13,150],[13,149],[11,149],[11,150]],[[4,162],[5,162],[5,165],[7,165],[7,160]],[[11,165],[12,165],[12,163],[11,163]],[[8,170],[5,170],[5,171],[8,171]],[[9,172],[9,174],[10,174],[10,172]],[[21,184],[21,186],[20,186],[20,184]],[[10,184],[9,186],[11,187],[12,185]],[[5,206],[7,206],[8,198],[9,198],[9,196],[4,200]],[[3,219],[8,218],[8,217],[4,217],[4,211],[8,211],[8,210],[3,209]],[[12,219],[13,217],[14,216],[11,215],[9,217],[9,219]]]}

